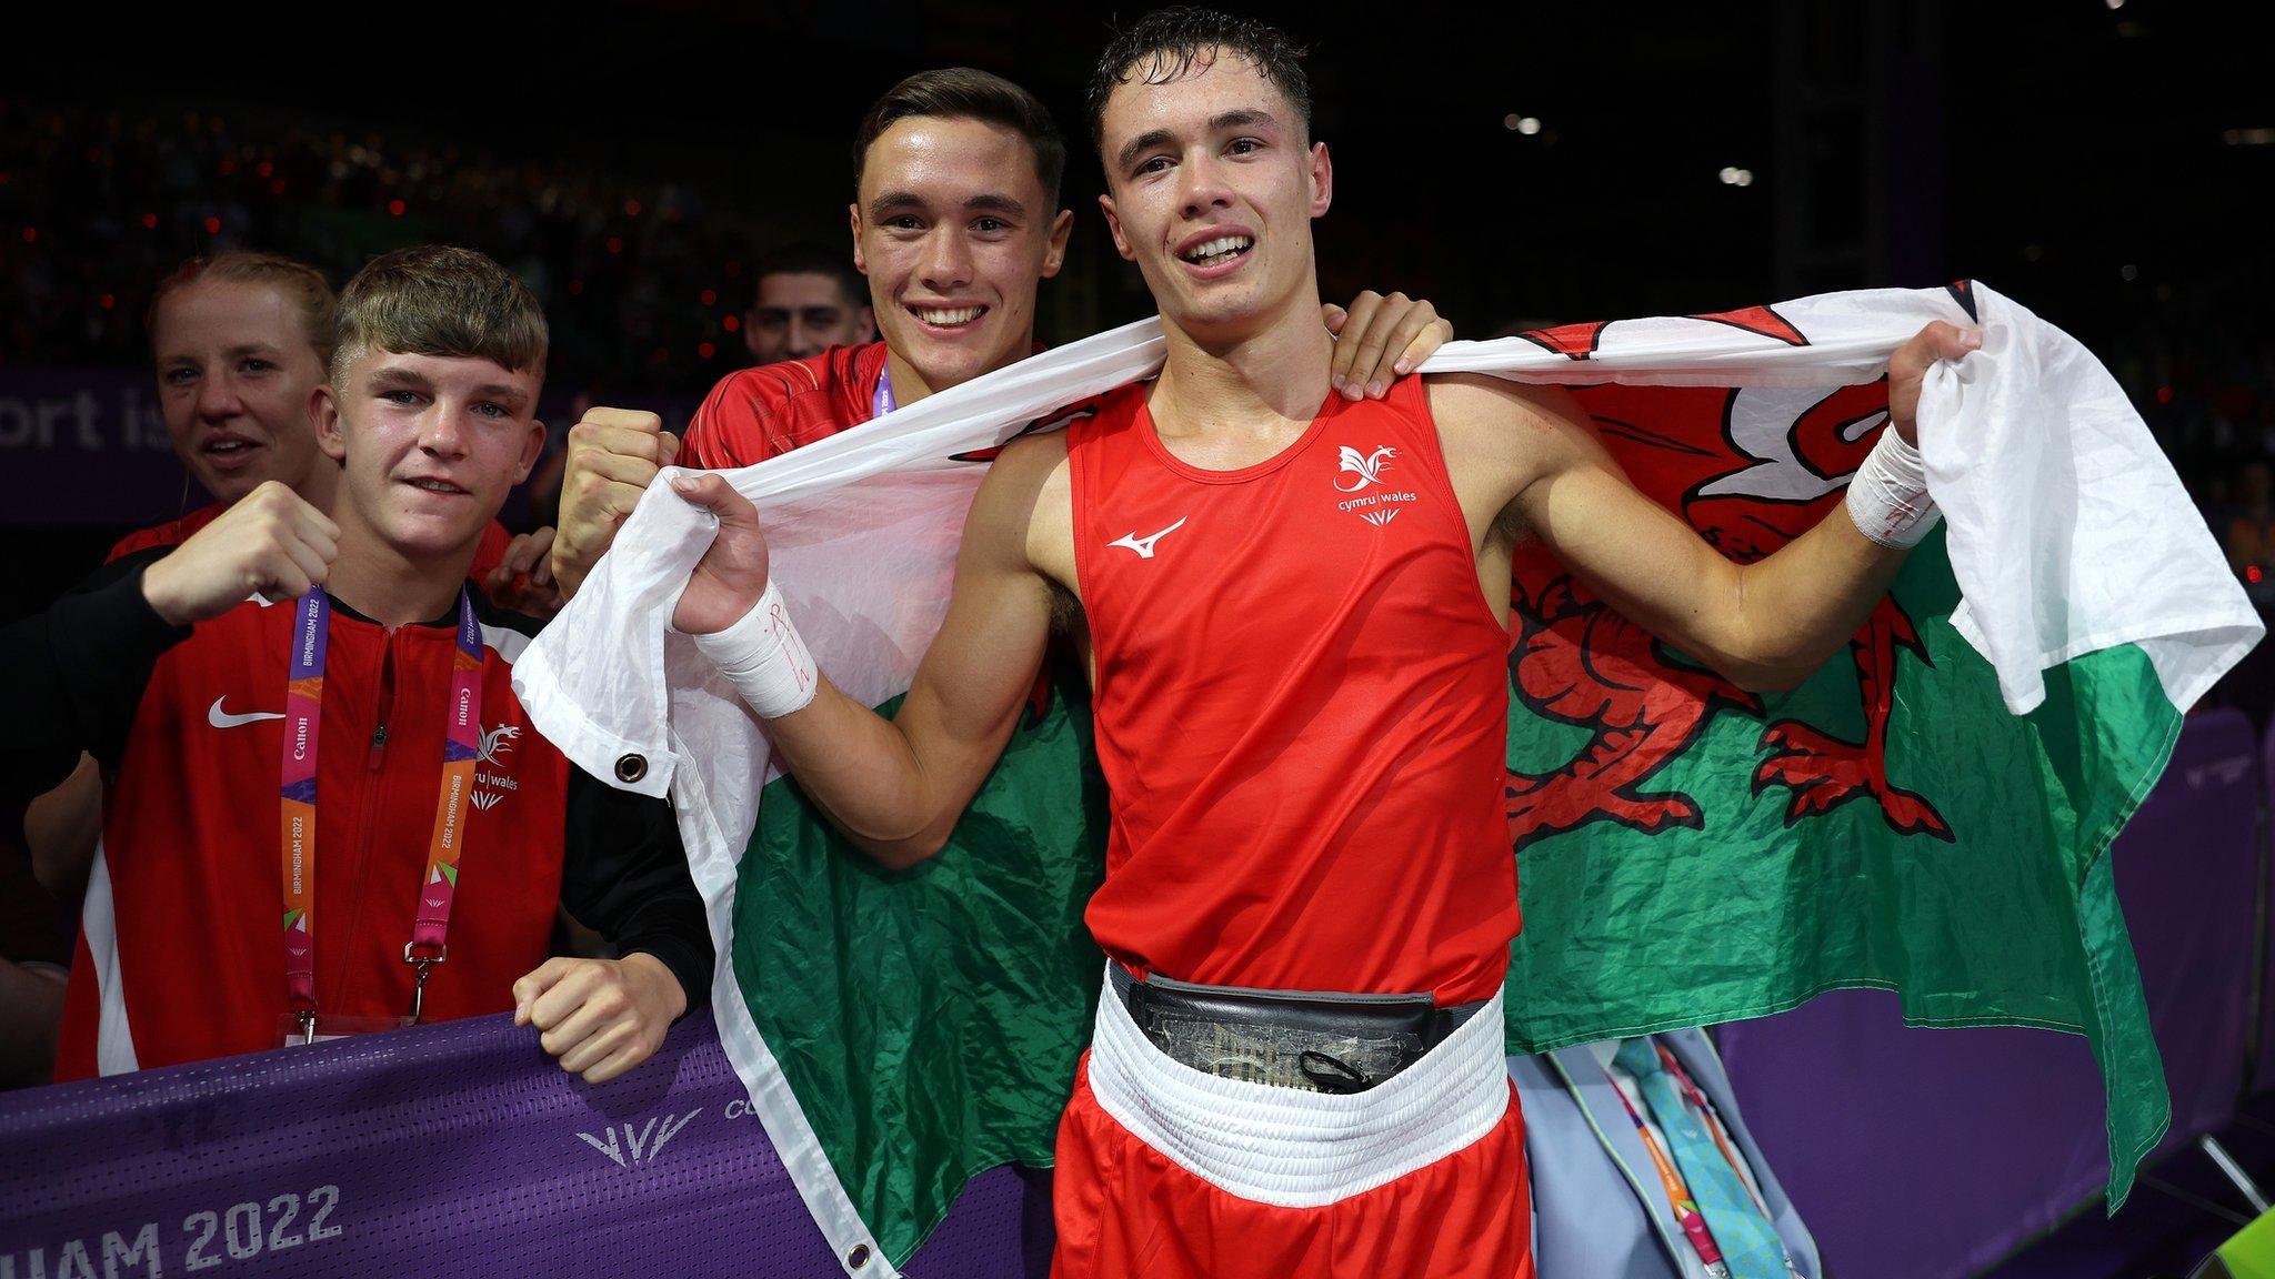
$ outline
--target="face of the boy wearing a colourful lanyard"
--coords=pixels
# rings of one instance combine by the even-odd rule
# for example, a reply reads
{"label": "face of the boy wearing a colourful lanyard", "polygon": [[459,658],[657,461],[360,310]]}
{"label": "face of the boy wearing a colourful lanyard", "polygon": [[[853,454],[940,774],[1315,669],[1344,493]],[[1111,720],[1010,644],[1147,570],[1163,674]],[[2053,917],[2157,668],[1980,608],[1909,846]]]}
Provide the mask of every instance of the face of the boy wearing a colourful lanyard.
{"label": "face of the boy wearing a colourful lanyard", "polygon": [[380,348],[346,355],[341,373],[314,396],[323,451],[344,467],[334,519],[407,560],[471,553],[544,448],[544,373]]}

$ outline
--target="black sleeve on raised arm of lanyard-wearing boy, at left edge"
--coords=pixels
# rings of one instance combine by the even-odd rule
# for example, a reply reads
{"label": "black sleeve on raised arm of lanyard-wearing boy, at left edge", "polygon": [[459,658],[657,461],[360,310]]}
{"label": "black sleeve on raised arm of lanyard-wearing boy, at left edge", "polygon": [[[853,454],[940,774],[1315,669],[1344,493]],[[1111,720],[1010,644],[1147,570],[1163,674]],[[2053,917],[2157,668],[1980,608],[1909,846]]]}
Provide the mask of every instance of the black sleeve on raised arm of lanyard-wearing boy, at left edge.
{"label": "black sleeve on raised arm of lanyard-wearing boy, at left edge", "polygon": [[[150,558],[155,560],[155,555]],[[168,626],[141,594],[150,560],[109,564],[46,612],[0,628],[9,742],[0,762],[7,801],[41,794],[80,762],[114,765],[157,660],[187,626]]]}

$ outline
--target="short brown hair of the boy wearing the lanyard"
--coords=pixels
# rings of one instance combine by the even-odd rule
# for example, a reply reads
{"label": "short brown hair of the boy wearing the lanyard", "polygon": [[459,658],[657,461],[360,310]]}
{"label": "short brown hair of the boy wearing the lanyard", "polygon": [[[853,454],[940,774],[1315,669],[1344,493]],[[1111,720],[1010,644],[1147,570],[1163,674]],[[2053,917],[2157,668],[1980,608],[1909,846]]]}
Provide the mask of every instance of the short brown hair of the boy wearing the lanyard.
{"label": "short brown hair of the boy wearing the lanyard", "polygon": [[516,373],[546,371],[546,312],[530,289],[471,248],[428,244],[373,257],[339,291],[332,385],[366,350],[464,355]]}

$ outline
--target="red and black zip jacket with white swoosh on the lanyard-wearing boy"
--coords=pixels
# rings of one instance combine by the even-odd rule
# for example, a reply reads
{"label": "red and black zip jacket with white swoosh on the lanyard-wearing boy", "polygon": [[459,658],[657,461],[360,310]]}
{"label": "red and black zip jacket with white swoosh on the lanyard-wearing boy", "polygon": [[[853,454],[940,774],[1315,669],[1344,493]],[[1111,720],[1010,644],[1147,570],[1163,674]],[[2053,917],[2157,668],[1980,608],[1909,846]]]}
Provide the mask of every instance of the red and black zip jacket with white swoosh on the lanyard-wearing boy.
{"label": "red and black zip jacket with white swoosh on the lanyard-wearing boy", "polygon": [[[105,767],[102,847],[64,1006],[57,1079],[116,1074],[278,1045],[284,992],[280,760],[293,608],[241,603],[168,628],[121,560],[96,621],[143,635],[139,660],[57,671],[93,685]],[[548,956],[555,903],[680,979],[710,988],[710,933],[669,808],[578,774],[528,721],[510,685],[537,624],[491,608],[482,624],[482,753],[460,856],[448,960],[425,1020],[512,1008],[512,983]],[[403,963],[441,783],[448,617],[389,628],[332,601],[318,728],[318,1013],[400,1017]],[[57,637],[68,640],[68,637]],[[68,649],[66,644],[57,644]],[[318,1026],[321,1029],[321,1026]]]}

